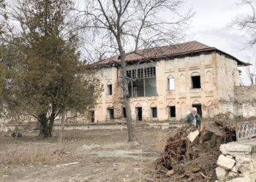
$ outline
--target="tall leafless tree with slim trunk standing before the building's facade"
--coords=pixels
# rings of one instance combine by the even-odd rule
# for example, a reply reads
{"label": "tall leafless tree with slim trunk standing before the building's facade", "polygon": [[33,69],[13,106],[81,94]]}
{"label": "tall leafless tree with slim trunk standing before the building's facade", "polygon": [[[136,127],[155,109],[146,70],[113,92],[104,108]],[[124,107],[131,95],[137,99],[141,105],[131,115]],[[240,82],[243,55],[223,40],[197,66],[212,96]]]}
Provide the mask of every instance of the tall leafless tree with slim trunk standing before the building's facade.
{"label": "tall leafless tree with slim trunk standing before the building's facade", "polygon": [[[138,50],[184,41],[195,12],[191,8],[185,15],[179,14],[178,9],[183,4],[183,0],[85,0],[79,1],[75,9],[74,22],[85,32],[89,44],[104,47],[110,56],[119,54],[119,85],[124,93],[129,141],[133,140],[133,126],[128,91],[131,79],[126,76],[126,57],[135,53],[143,58],[145,52]],[[163,17],[162,12],[168,12],[168,17]]]}

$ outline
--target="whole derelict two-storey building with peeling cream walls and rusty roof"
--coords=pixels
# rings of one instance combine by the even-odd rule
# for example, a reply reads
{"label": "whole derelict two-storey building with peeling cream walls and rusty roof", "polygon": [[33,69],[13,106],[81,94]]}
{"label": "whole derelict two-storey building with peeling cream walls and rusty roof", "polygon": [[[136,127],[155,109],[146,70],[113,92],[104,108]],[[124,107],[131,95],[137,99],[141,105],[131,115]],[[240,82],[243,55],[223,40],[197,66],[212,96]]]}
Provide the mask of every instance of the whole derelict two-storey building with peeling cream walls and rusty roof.
{"label": "whole derelict two-storey building with peeling cream walls and rusty roof", "polygon": [[[158,55],[152,53],[156,51]],[[224,101],[235,100],[238,66],[248,65],[197,41],[152,49],[144,57],[128,55],[126,60],[134,121],[183,119],[193,106],[203,117],[218,114]],[[94,110],[95,122],[126,117],[118,62],[117,55],[98,63],[104,91]]]}

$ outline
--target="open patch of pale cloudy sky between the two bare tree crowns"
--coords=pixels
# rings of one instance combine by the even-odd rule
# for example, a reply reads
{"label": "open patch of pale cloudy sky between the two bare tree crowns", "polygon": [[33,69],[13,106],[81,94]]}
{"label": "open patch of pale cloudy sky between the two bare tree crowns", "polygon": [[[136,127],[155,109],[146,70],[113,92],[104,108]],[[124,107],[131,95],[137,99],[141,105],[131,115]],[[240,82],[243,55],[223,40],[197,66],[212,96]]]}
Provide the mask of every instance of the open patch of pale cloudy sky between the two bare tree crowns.
{"label": "open patch of pale cloudy sky between the two bare tree crowns", "polygon": [[[196,11],[191,30],[195,33],[193,40],[216,47],[241,61],[246,62],[245,56],[248,55],[254,62],[255,47],[239,50],[243,47],[242,42],[246,41],[244,33],[227,30],[227,23],[230,23],[236,15],[252,13],[249,6],[238,6],[239,3],[241,0],[187,0],[181,12],[186,12],[191,6]],[[239,69],[244,72],[241,67]]]}

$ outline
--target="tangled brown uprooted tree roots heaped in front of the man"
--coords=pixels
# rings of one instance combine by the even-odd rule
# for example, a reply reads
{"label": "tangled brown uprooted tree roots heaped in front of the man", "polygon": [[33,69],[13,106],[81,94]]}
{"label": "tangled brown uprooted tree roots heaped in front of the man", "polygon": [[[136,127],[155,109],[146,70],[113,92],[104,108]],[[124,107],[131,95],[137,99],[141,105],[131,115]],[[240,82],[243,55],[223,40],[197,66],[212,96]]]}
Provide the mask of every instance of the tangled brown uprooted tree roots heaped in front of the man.
{"label": "tangled brown uprooted tree roots heaped in front of the man", "polygon": [[155,178],[171,178],[172,181],[208,181],[216,177],[219,149],[210,143],[200,144],[199,136],[192,143],[189,132],[196,128],[182,127],[167,140],[165,152],[157,159]]}

